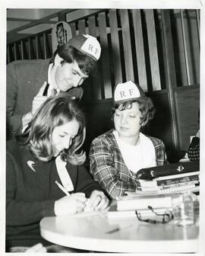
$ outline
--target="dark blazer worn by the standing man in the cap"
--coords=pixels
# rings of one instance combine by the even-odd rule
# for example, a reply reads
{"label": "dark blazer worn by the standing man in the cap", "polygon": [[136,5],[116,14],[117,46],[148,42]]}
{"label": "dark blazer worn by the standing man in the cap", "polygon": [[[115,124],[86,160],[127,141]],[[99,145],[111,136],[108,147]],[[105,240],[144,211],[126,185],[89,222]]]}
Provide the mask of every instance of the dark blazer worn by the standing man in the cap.
{"label": "dark blazer worn by the standing man in the cap", "polygon": [[[7,66],[6,117],[7,134],[22,130],[22,116],[29,112],[33,98],[48,81],[50,59],[17,60]],[[69,90],[71,96],[81,98],[82,88]]]}

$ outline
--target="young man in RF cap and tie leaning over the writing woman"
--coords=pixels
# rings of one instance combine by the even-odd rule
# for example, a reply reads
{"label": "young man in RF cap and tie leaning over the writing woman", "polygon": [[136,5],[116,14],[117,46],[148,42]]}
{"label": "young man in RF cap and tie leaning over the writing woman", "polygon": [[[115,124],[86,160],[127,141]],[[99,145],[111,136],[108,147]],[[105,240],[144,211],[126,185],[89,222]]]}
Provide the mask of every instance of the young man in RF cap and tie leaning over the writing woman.
{"label": "young man in RF cap and tie leaning over the writing woman", "polygon": [[68,93],[80,99],[78,88],[95,72],[101,47],[90,35],[80,34],[58,46],[52,59],[19,60],[7,66],[8,135],[21,134],[49,96]]}

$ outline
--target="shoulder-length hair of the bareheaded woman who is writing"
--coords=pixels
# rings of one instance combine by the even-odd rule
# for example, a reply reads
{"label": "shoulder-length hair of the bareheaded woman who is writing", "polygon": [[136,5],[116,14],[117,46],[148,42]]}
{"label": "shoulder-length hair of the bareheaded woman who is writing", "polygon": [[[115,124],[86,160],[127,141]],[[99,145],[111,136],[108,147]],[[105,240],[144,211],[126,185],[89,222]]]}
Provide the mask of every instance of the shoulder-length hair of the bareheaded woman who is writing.
{"label": "shoulder-length hair of the bareheaded woman who is writing", "polygon": [[76,101],[68,96],[48,98],[33,116],[27,130],[18,138],[18,141],[27,145],[36,158],[48,162],[54,157],[52,131],[56,126],[71,120],[76,120],[80,128],[70,148],[61,152],[61,158],[74,165],[80,165],[83,163],[80,158],[82,152],[77,154],[77,150],[84,143],[85,118]]}

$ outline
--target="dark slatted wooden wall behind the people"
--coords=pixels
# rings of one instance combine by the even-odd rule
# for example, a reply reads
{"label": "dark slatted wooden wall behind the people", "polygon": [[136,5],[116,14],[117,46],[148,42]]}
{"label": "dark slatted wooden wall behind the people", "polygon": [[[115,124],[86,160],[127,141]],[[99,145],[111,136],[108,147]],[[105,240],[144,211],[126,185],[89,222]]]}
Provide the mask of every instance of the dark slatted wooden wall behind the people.
{"label": "dark slatted wooden wall behind the people", "polygon": [[[166,9],[102,9],[95,14],[69,22],[73,37],[79,33],[90,34],[97,37],[102,46],[96,77],[88,78],[84,82],[82,101],[87,113],[87,149],[94,137],[112,127],[110,117],[112,100],[109,98],[112,98],[114,85],[134,78],[138,78],[141,87],[147,91],[147,95],[153,99],[156,106],[156,115],[147,127],[147,133],[162,139],[169,152],[178,148],[188,149],[189,136],[197,131],[200,92],[199,86],[183,86],[190,83],[186,83],[186,78],[184,79],[185,54],[181,44],[185,41],[185,45],[186,40],[191,39],[189,43],[187,42],[189,57],[187,59],[190,61],[187,69],[191,69],[191,75],[195,73],[198,75],[200,41],[199,33],[190,38],[187,33],[186,37],[184,35],[184,40],[181,37],[182,32],[185,34],[189,32],[187,29],[193,28],[188,27],[189,17],[186,17],[182,32],[177,33],[181,28],[178,22],[179,12],[180,10],[176,17],[172,11]],[[58,18],[64,20],[65,13],[66,11],[58,15]],[[196,11],[195,18],[192,15],[191,19],[195,19],[195,27],[199,29],[199,11]],[[174,43],[172,43],[172,33],[175,33]],[[49,51],[51,38],[48,35],[45,31],[44,34],[27,37],[28,43],[25,43],[23,51],[23,41],[12,43],[8,46],[8,62],[24,58],[49,57],[52,51]],[[193,42],[197,47],[190,47]],[[191,65],[191,54],[197,62],[194,67]],[[177,82],[175,72],[180,76],[177,77]],[[162,79],[160,74],[163,75]]]}

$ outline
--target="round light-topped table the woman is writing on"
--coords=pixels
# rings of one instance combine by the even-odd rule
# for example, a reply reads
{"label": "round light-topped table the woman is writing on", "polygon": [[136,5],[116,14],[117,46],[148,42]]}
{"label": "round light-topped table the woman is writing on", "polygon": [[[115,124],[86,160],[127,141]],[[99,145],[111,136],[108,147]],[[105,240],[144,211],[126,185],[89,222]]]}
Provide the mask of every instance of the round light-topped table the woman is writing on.
{"label": "round light-topped table the woman is writing on", "polygon": [[46,217],[41,235],[49,242],[89,251],[181,253],[198,251],[199,226],[140,222],[137,218],[108,219],[106,213]]}

